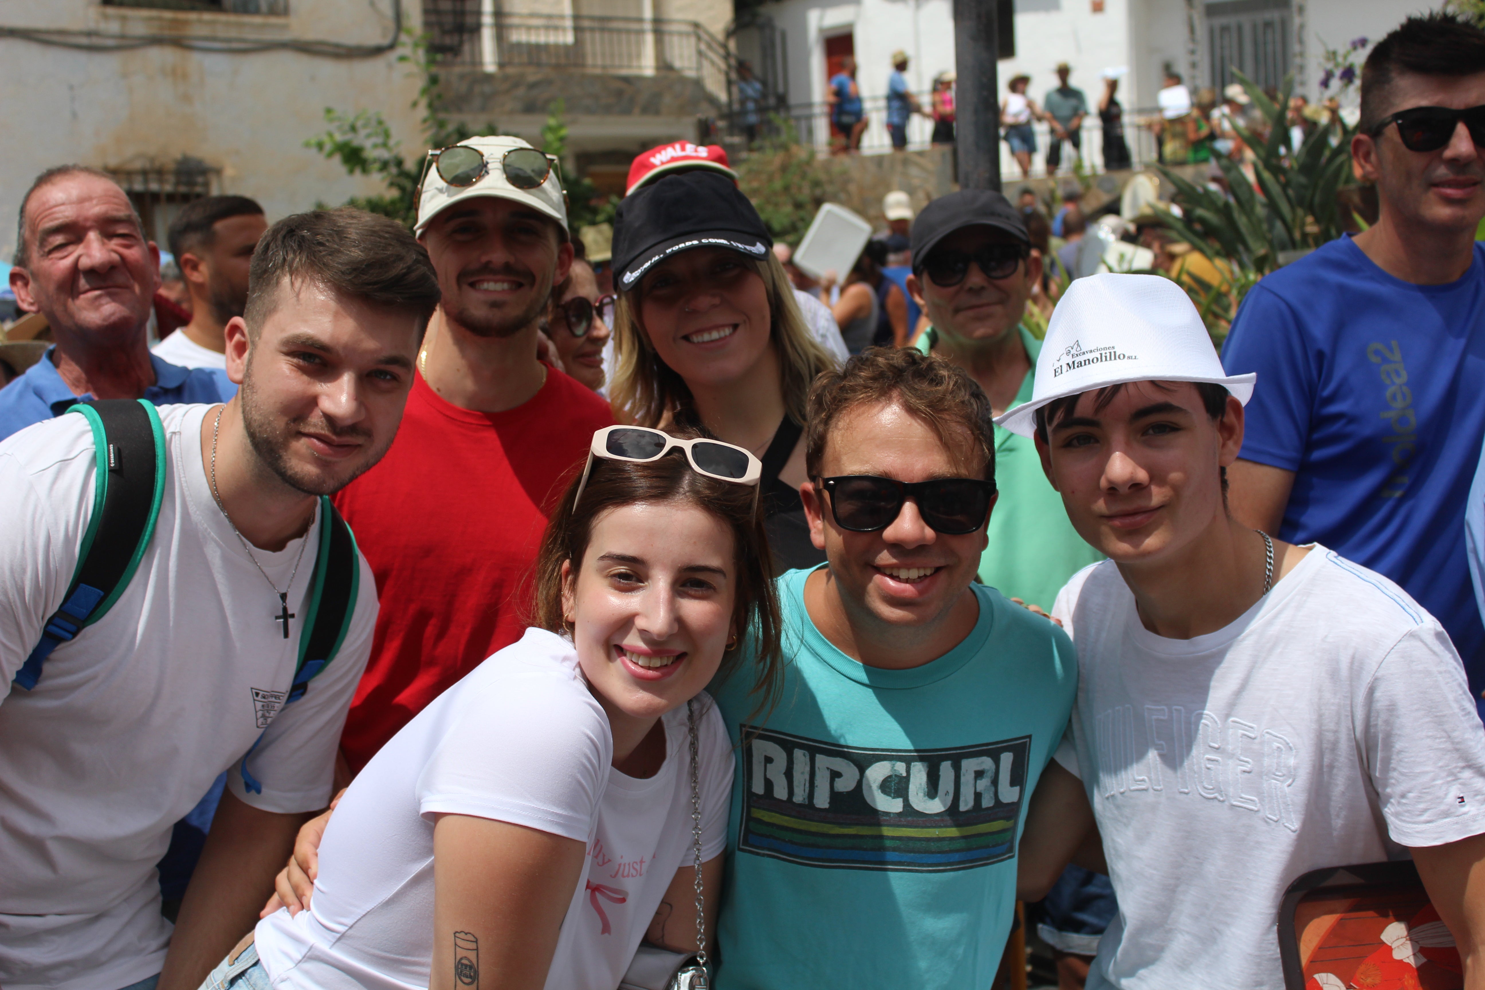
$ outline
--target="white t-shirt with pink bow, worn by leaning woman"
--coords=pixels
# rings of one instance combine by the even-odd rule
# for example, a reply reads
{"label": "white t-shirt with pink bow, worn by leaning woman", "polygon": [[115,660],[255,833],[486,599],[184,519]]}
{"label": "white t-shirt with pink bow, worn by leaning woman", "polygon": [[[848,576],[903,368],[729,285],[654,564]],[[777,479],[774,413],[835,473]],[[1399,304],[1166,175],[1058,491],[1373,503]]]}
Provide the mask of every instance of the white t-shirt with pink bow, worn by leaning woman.
{"label": "white t-shirt with pink bow, worn by leaning woman", "polygon": [[[696,707],[702,858],[711,859],[726,840],[732,748],[711,699]],[[340,799],[309,910],[258,922],[273,986],[426,987],[434,821],[474,815],[587,843],[546,987],[613,990],[676,870],[693,862],[686,707],[664,726],[655,776],[615,770],[607,715],[572,643],[527,629],[392,736]]]}

